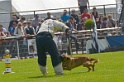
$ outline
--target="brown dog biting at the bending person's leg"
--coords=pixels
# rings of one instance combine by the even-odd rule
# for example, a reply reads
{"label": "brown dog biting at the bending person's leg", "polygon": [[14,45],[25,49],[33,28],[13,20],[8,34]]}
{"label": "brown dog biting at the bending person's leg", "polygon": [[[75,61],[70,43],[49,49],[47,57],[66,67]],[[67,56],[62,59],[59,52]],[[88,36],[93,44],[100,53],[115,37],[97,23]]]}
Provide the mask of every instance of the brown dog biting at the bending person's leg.
{"label": "brown dog biting at the bending person's leg", "polygon": [[88,72],[91,69],[92,71],[94,71],[95,63],[98,62],[98,59],[95,59],[95,58],[90,58],[86,56],[70,57],[65,54],[61,55],[61,59],[62,59],[62,67],[64,70],[71,70],[75,67],[83,65],[84,67],[88,68]]}

